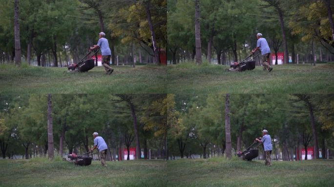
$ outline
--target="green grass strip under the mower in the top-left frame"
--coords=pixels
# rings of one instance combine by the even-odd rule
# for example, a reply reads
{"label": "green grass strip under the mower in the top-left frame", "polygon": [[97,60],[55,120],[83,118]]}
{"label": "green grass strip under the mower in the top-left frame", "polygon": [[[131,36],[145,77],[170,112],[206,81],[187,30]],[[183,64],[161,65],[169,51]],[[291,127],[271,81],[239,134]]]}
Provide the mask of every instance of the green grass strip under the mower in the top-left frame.
{"label": "green grass strip under the mower in the top-left frame", "polygon": [[103,67],[86,73],[67,68],[0,65],[0,93],[166,93],[166,68],[117,66],[112,75]]}

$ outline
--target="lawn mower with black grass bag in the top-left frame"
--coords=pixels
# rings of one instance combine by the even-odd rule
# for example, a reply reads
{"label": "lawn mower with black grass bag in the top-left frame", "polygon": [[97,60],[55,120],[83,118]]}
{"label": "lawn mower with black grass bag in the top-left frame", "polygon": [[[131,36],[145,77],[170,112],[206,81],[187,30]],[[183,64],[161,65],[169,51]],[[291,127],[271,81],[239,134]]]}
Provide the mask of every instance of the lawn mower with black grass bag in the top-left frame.
{"label": "lawn mower with black grass bag in the top-left frame", "polygon": [[[69,72],[88,72],[89,70],[93,69],[95,66],[95,59],[91,59],[92,56],[94,56],[97,52],[99,51],[99,49],[95,49],[95,50],[90,50],[86,56],[84,56],[83,59],[81,59],[77,64],[73,63],[69,66],[67,66],[67,69],[69,70]],[[91,55],[93,54],[93,55]],[[87,56],[91,55],[89,58],[87,58]]]}

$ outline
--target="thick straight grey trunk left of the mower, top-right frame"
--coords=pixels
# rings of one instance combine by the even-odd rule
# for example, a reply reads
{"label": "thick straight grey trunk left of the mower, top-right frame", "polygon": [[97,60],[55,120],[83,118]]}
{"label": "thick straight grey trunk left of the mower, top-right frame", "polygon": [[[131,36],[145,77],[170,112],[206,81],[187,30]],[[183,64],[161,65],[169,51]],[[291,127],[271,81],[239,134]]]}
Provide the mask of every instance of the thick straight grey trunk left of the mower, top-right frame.
{"label": "thick straight grey trunk left of the mower, top-right frame", "polygon": [[201,48],[201,23],[200,23],[200,0],[195,0],[195,46],[196,46],[196,64],[202,64]]}

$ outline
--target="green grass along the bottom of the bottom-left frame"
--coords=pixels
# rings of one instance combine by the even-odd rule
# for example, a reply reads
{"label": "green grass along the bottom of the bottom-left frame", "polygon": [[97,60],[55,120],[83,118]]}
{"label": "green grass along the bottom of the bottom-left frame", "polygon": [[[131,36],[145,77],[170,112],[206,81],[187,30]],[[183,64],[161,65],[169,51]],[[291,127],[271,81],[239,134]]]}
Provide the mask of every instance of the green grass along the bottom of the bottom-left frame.
{"label": "green grass along the bottom of the bottom-left frame", "polygon": [[165,163],[156,160],[126,162],[93,161],[74,166],[65,161],[0,160],[1,187],[159,187],[166,184]]}

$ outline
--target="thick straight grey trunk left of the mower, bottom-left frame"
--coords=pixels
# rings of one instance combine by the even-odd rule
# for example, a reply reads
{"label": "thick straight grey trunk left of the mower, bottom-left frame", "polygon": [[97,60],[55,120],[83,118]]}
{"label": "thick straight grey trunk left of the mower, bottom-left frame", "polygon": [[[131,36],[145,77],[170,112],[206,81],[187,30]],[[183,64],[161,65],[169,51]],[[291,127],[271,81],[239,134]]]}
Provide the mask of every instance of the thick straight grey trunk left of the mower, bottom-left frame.
{"label": "thick straight grey trunk left of the mower, bottom-left frame", "polygon": [[47,144],[48,157],[53,160],[55,157],[53,152],[53,127],[52,127],[52,94],[47,97]]}

